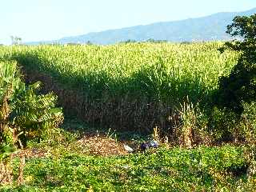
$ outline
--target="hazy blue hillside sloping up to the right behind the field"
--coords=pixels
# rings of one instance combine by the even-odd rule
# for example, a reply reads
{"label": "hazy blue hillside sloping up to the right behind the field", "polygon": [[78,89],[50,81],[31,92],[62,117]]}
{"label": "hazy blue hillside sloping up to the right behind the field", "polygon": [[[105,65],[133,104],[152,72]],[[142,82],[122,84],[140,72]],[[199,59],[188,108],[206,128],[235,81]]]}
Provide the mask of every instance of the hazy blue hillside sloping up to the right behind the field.
{"label": "hazy blue hillside sloping up to the right behind the field", "polygon": [[170,42],[191,42],[228,40],[225,33],[226,26],[237,15],[256,14],[256,8],[244,12],[218,13],[202,18],[189,18],[175,22],[156,22],[145,26],[131,26],[117,30],[105,30],[97,33],[83,34],[79,36],[61,38],[49,42],[39,43],[85,43],[113,44],[127,40],[146,41],[148,39],[166,40]]}

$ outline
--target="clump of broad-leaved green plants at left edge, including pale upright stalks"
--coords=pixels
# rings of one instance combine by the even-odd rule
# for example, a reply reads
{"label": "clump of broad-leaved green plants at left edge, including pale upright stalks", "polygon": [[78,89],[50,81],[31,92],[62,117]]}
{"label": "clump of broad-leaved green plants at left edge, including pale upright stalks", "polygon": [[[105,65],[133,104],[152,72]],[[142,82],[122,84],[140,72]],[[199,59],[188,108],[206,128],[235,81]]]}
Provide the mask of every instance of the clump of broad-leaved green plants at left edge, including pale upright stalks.
{"label": "clump of broad-leaved green plants at left edge, including pale upright stalks", "polygon": [[26,146],[31,135],[43,138],[62,122],[54,94],[38,94],[40,82],[26,86],[16,62],[0,62],[0,146]]}

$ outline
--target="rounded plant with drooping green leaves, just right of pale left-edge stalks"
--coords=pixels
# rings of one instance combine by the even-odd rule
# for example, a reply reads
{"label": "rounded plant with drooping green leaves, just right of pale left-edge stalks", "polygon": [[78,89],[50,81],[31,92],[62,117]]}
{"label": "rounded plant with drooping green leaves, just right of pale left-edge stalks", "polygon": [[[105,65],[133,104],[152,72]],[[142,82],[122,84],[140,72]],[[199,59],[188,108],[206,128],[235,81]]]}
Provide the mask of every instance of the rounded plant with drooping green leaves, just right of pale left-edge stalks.
{"label": "rounded plant with drooping green leaves, just right of pale left-edge stalks", "polygon": [[17,127],[22,146],[30,136],[40,138],[62,122],[62,109],[56,108],[54,94],[37,94],[41,83],[35,82],[30,86],[23,86],[16,90],[11,102],[13,107],[10,121]]}

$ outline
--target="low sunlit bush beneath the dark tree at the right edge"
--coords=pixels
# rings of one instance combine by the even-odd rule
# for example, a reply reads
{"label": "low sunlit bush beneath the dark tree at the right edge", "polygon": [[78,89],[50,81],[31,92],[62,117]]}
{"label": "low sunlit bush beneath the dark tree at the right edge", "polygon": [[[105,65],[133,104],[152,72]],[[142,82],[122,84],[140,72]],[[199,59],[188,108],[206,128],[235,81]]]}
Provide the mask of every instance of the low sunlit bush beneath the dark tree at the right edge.
{"label": "low sunlit bush beneath the dark tree at the right edge", "polygon": [[210,115],[210,132],[215,142],[256,144],[256,102],[242,102],[243,112],[214,107]]}

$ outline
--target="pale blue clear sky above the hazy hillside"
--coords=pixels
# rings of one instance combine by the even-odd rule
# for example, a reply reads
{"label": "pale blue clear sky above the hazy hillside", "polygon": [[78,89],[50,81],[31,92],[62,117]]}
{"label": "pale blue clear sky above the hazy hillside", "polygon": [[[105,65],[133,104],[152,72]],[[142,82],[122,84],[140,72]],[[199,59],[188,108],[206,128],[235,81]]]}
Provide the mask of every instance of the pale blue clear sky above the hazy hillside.
{"label": "pale blue clear sky above the hazy hillside", "polygon": [[254,7],[256,0],[1,0],[0,43],[10,44],[10,35],[52,40]]}

